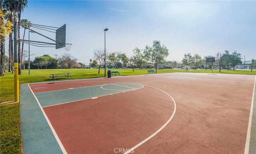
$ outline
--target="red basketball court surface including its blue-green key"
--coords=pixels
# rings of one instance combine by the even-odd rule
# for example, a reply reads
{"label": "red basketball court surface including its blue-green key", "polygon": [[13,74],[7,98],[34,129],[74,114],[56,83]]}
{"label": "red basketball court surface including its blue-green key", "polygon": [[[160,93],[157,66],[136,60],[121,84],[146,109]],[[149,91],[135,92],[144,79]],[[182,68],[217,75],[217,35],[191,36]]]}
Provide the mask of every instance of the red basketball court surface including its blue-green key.
{"label": "red basketball court surface including its blue-green key", "polygon": [[255,78],[166,73],[28,86],[63,153],[243,154]]}

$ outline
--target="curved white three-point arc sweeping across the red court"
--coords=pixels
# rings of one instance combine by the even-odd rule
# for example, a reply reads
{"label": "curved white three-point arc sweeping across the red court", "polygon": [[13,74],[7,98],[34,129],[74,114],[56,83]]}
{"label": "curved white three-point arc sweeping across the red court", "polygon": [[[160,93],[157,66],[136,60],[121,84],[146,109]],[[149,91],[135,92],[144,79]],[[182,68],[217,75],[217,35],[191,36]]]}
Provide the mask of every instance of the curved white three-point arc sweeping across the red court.
{"label": "curved white three-point arc sweeping across the red court", "polygon": [[[145,86],[148,86],[148,85],[145,85]],[[148,86],[148,87],[152,87],[152,86]],[[152,87],[152,88],[155,88],[155,87]],[[155,89],[158,89],[158,88],[155,88]],[[161,89],[158,89],[164,93],[166,93],[165,91],[161,90]],[[129,148],[128,151],[126,151],[124,154],[128,154],[130,152],[133,152],[134,149],[138,148],[139,146],[141,146],[142,144],[144,144],[145,142],[147,142],[148,140],[150,140],[150,138],[154,137],[158,132],[160,132],[162,129],[164,129],[164,127],[166,127],[166,125],[172,120],[172,118],[174,117],[175,115],[175,112],[176,112],[176,103],[174,101],[174,99],[172,98],[171,95],[169,95],[168,93],[166,93],[168,96],[171,97],[173,103],[174,103],[174,110],[173,110],[173,113],[172,113],[172,116],[169,118],[169,120],[161,127],[159,128],[156,132],[154,132],[152,135],[150,135],[148,138],[146,138],[145,140],[143,140],[142,142],[138,143],[136,146],[132,147],[132,148]]]}

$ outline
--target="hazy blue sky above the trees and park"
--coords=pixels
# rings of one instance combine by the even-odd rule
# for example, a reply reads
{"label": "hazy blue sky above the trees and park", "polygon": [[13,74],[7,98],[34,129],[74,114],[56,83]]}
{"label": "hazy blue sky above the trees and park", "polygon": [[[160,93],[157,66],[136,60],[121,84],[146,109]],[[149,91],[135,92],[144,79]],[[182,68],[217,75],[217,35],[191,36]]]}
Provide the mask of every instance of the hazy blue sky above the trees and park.
{"label": "hazy blue sky above the trees and park", "polygon": [[[108,53],[130,57],[136,47],[144,49],[159,40],[169,49],[167,61],[182,61],[185,53],[203,58],[225,50],[241,53],[242,61],[244,56],[256,59],[255,0],[28,0],[21,18],[56,28],[66,24],[66,43],[72,43],[70,51],[30,45],[31,60],[44,54],[58,58],[68,52],[88,65],[94,49],[104,50],[105,28]],[[40,33],[55,39],[54,33]],[[30,33],[30,40],[52,43],[36,33]],[[24,50],[28,51],[27,44]]]}

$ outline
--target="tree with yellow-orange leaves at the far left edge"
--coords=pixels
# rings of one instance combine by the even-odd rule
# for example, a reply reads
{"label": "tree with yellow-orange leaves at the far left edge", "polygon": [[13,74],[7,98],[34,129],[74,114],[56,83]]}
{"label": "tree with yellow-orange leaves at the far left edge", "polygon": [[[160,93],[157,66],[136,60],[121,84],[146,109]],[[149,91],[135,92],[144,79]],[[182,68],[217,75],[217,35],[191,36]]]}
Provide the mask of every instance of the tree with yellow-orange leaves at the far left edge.
{"label": "tree with yellow-orange leaves at the far left edge", "polygon": [[5,38],[12,32],[12,23],[4,20],[4,14],[2,12],[2,2],[0,4],[0,76],[4,76],[4,56],[5,56]]}

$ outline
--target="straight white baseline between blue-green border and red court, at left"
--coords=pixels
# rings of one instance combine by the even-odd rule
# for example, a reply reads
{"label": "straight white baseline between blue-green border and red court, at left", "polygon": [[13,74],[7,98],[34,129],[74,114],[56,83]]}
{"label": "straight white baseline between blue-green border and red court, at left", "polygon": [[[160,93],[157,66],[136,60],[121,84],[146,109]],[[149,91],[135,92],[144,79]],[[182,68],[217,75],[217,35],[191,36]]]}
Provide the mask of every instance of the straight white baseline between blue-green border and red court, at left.
{"label": "straight white baseline between blue-green border and red court, at left", "polygon": [[52,133],[54,134],[54,137],[56,138],[59,146],[60,146],[60,149],[62,150],[63,154],[68,154],[64,148],[64,146],[62,145],[61,141],[60,141],[60,138],[58,137],[57,133],[55,132],[50,120],[48,119],[48,117],[46,116],[46,113],[44,112],[40,102],[38,101],[38,99],[36,98],[36,95],[33,93],[32,89],[30,88],[30,86],[28,85],[30,91],[32,92],[32,94],[34,95],[35,99],[36,99],[36,102],[38,103],[38,106],[40,107],[43,115],[44,115],[44,118],[46,119],[46,121],[48,122],[48,125],[50,126],[51,130],[52,130]]}

